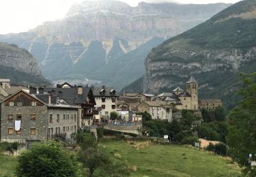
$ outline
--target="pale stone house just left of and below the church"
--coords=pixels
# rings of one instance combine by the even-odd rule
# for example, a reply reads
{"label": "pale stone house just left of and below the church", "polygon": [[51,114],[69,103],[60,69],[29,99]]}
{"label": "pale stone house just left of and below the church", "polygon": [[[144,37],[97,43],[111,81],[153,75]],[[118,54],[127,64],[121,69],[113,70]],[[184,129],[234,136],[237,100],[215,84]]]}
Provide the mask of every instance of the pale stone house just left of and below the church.
{"label": "pale stone house just left of and below the church", "polygon": [[148,112],[152,119],[171,122],[173,106],[166,101],[144,101],[138,106],[138,112]]}

